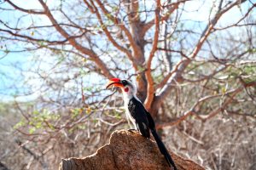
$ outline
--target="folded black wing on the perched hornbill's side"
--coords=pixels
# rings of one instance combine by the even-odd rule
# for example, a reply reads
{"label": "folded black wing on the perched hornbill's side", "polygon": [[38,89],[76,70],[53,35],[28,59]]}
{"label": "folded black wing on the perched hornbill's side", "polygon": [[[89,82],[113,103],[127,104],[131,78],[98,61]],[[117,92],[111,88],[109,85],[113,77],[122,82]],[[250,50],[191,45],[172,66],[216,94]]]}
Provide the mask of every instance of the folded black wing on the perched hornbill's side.
{"label": "folded black wing on the perched hornbill's side", "polygon": [[132,98],[129,101],[128,110],[136,121],[138,131],[143,137],[149,138],[148,116],[143,104],[137,99]]}

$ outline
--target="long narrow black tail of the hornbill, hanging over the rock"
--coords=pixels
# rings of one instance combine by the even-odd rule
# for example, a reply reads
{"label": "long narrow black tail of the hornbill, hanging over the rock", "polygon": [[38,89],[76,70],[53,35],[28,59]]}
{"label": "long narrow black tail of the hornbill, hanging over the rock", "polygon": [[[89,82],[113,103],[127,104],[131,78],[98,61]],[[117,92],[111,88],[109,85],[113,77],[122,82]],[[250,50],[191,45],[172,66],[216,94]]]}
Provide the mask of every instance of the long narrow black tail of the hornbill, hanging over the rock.
{"label": "long narrow black tail of the hornbill, hanging over the rock", "polygon": [[151,129],[151,133],[154,136],[154,140],[156,141],[156,144],[158,145],[158,148],[159,148],[161,154],[165,156],[169,167],[173,167],[174,170],[177,170],[177,167],[175,166],[174,161],[172,160],[172,157],[170,156],[168,150],[166,149],[165,144],[162,142],[159,135],[156,133],[156,130]]}

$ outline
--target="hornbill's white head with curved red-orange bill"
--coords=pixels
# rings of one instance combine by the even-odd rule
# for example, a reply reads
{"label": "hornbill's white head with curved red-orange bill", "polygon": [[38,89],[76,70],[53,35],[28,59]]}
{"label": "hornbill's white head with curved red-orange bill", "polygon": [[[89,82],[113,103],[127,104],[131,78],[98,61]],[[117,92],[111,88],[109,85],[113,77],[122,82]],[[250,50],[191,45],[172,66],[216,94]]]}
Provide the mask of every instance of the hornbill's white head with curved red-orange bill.
{"label": "hornbill's white head with curved red-orange bill", "polygon": [[129,80],[112,78],[109,80],[107,84],[107,88],[112,86],[121,88],[124,96],[128,97],[129,99],[131,99],[131,97],[133,96],[136,96],[136,93],[137,93],[136,85]]}

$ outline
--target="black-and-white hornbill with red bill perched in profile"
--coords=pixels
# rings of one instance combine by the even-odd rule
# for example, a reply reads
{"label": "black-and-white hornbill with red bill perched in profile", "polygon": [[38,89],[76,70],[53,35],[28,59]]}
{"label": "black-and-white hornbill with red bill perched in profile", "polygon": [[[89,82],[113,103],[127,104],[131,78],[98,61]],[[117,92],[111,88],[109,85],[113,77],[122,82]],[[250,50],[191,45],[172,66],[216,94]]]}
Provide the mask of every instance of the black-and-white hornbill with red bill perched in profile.
{"label": "black-and-white hornbill with red bill perched in profile", "polygon": [[159,135],[156,133],[154,120],[150,113],[144,108],[142,102],[137,98],[137,87],[129,80],[120,80],[119,78],[112,78],[107,84],[107,88],[115,86],[121,88],[125,102],[125,114],[126,117],[132,122],[135,129],[137,129],[143,137],[146,139],[150,138],[150,133],[154,136],[156,144],[162,155],[165,156],[169,167],[173,167],[177,170],[177,167],[172,161],[172,157],[168,153],[165,144],[161,141]]}

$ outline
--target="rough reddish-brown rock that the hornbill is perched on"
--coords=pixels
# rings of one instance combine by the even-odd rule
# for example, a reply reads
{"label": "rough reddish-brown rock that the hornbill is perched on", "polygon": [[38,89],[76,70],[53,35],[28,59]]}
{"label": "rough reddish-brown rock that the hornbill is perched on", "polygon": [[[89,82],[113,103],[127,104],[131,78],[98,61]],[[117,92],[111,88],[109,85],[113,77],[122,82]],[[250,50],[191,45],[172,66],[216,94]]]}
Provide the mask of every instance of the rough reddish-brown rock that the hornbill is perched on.
{"label": "rough reddish-brown rock that the hornbill is perched on", "polygon": [[[204,170],[194,161],[186,160],[173,154],[178,170]],[[126,130],[115,131],[111,134],[109,144],[103,145],[95,154],[84,158],[62,159],[60,170],[166,170],[168,167],[165,157],[160,154],[157,145],[151,139],[145,139],[139,133]]]}

